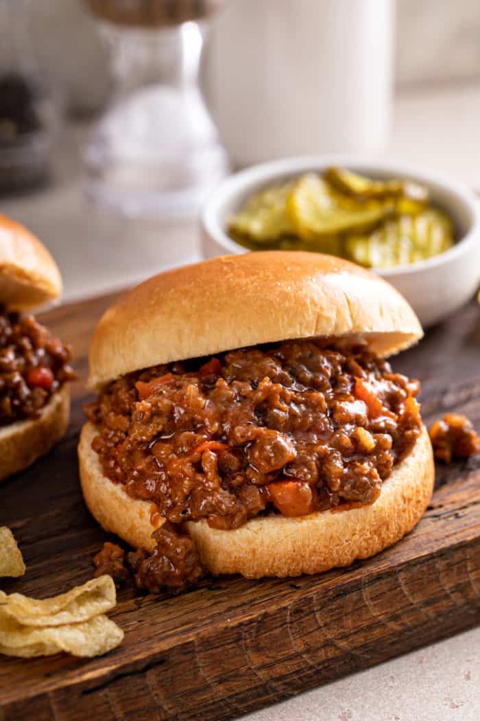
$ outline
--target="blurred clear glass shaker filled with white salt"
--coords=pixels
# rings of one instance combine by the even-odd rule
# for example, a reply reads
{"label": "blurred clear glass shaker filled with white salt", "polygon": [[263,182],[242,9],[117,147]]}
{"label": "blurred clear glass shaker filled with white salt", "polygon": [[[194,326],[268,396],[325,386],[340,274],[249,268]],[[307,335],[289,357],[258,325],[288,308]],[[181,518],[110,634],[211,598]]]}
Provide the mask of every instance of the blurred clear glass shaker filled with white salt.
{"label": "blurred clear glass shaker filled with white salt", "polygon": [[[198,84],[206,21],[177,12],[171,23],[150,14],[129,25],[100,12],[122,1],[89,4],[111,50],[113,87],[86,146],[86,193],[127,216],[192,216],[227,172]],[[194,19],[176,22],[184,17]]]}

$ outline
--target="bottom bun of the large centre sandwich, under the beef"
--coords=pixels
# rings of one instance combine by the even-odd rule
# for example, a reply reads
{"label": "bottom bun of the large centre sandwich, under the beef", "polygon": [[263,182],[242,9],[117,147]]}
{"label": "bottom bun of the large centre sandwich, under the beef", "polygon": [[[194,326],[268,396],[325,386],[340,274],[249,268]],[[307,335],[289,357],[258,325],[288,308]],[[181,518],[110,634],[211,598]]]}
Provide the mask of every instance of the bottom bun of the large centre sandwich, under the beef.
{"label": "bottom bun of the large centre sandwich, under the beef", "polygon": [[[163,519],[153,525],[152,504],[131,498],[122,485],[102,474],[99,456],[91,448],[96,433],[94,425],[84,425],[78,446],[86,504],[107,531],[135,548],[152,551],[155,541],[151,535]],[[434,477],[432,446],[424,427],[412,452],[394,467],[373,505],[298,518],[258,516],[232,531],[210,528],[207,521],[190,521],[187,526],[202,564],[214,574],[261,578],[318,573],[348,566],[399,541],[425,512]]]}

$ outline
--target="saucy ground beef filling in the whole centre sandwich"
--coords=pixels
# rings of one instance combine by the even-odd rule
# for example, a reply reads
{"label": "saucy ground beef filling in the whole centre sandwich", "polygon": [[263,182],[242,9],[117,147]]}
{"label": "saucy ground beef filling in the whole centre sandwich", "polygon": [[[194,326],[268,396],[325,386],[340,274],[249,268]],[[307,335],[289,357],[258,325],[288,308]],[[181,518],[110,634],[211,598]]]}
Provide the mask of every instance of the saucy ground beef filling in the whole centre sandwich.
{"label": "saucy ground beef filling in the whole centre sandwich", "polygon": [[364,345],[302,340],[130,373],[86,415],[129,495],[229,529],[373,503],[420,434],[418,391]]}

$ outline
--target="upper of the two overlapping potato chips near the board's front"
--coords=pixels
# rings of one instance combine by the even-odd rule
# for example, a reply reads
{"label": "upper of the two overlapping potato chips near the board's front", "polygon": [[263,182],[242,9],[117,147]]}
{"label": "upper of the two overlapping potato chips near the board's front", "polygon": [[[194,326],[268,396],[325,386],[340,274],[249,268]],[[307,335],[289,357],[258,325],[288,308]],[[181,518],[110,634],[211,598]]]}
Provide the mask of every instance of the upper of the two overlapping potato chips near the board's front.
{"label": "upper of the two overlapping potato chips near the board's front", "polygon": [[[88,621],[113,609],[116,603],[115,584],[111,576],[92,578],[60,596],[37,600],[12,593],[0,594],[0,627],[3,619],[24,626],[60,626]],[[2,603],[3,601],[3,603]],[[5,602],[6,601],[6,602]]]}

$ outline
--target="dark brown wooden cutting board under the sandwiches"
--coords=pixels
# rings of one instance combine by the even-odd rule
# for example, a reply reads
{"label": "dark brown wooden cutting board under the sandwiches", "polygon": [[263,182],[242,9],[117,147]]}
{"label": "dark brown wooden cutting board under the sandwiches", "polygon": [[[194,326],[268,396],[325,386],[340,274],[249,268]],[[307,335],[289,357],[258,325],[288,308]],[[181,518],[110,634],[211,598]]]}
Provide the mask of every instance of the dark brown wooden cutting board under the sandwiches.
{"label": "dark brown wooden cutting board under the sandwiches", "polygon": [[[32,469],[0,487],[0,525],[27,563],[7,593],[50,596],[91,578],[107,534],[78,487],[89,337],[112,296],[63,306],[43,322],[76,351],[71,427]],[[480,429],[480,308],[472,303],[394,359],[422,381],[427,423],[447,410]],[[480,619],[480,456],[438,466],[433,500],[395,547],[346,570],[289,580],[205,580],[183,596],[131,586],[111,614],[109,655],[1,657],[0,721],[231,719],[471,627]]]}

